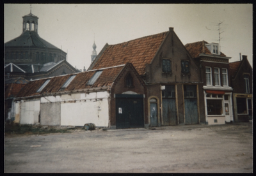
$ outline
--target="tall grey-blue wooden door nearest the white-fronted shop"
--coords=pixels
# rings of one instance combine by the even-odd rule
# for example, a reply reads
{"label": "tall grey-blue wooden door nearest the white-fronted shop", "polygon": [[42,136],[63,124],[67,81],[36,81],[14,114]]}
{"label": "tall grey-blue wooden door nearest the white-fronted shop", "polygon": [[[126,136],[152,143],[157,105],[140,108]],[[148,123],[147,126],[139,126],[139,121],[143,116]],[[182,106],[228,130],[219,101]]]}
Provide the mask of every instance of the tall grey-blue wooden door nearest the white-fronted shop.
{"label": "tall grey-blue wooden door nearest the white-fronted shop", "polygon": [[185,124],[198,124],[196,85],[184,85]]}

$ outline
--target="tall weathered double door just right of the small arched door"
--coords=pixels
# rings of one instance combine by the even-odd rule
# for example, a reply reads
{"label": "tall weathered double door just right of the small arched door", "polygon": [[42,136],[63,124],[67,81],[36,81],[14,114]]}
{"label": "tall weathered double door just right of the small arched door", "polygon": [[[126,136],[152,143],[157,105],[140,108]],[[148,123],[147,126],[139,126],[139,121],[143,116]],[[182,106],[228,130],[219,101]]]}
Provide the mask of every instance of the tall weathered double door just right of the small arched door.
{"label": "tall weathered double door just right of the small arched door", "polygon": [[177,110],[175,105],[175,85],[165,85],[162,91],[163,126],[177,125]]}

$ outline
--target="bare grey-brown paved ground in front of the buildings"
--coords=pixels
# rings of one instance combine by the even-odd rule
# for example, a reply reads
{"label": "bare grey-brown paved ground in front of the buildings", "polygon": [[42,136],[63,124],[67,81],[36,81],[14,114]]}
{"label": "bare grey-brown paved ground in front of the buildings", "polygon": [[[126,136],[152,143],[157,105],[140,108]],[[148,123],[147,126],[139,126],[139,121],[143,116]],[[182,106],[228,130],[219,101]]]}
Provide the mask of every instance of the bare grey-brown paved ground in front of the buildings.
{"label": "bare grey-brown paved ground in front of the buildings", "polygon": [[252,173],[252,123],[5,138],[6,173]]}

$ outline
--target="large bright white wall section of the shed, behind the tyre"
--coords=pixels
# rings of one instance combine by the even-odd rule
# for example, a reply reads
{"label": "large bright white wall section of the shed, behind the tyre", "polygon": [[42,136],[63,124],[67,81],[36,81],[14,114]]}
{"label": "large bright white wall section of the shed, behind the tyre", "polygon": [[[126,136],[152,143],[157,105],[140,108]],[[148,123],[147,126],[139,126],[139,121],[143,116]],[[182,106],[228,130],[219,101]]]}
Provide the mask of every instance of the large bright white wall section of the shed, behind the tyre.
{"label": "large bright white wall section of the shed, behind the tyre", "polygon": [[[109,92],[90,92],[45,96],[41,103],[61,102],[60,125],[84,126],[93,123],[95,126],[109,125]],[[100,110],[99,110],[100,108]]]}

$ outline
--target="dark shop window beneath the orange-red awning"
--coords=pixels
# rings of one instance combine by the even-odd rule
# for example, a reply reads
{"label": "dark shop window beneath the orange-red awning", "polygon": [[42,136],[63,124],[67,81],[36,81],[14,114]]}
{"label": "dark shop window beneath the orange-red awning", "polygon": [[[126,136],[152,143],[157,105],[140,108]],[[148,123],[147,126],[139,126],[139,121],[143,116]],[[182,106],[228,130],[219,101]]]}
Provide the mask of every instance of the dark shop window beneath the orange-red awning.
{"label": "dark shop window beneath the orange-red awning", "polygon": [[207,99],[207,114],[221,115],[222,114],[222,99]]}

